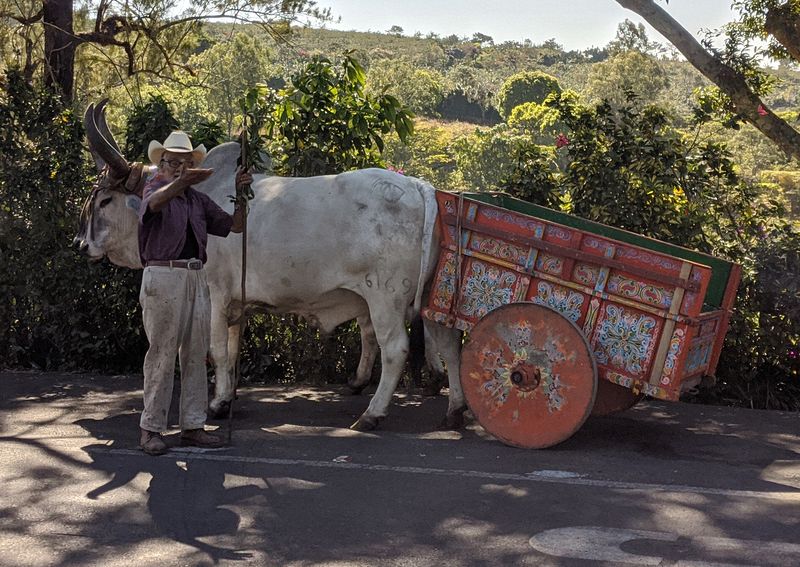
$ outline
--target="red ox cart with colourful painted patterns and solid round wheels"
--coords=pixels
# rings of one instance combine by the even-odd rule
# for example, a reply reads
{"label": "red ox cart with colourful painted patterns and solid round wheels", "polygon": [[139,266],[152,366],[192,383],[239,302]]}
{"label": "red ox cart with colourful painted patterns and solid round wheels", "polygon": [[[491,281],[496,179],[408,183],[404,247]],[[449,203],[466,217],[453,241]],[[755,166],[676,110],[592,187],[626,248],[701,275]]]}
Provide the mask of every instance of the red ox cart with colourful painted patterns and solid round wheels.
{"label": "red ox cart with colourful painted patterns and solid round wheels", "polygon": [[468,333],[461,384],[496,438],[548,447],[591,414],[713,376],[738,265],[504,194],[436,197],[422,314]]}

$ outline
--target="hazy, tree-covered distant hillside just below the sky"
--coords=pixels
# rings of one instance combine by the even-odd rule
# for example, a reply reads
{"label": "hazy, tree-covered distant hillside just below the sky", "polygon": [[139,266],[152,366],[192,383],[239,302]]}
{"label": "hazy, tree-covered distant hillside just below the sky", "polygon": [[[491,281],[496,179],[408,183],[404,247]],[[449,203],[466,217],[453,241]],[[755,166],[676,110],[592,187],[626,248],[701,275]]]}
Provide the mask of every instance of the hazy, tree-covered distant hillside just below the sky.
{"label": "hazy, tree-covered distant hillside just below the sky", "polygon": [[[211,25],[207,32],[213,42],[229,33],[230,29],[224,25]],[[419,83],[425,82],[428,89],[438,89],[442,100],[430,108],[417,104],[414,110],[419,115],[485,124],[499,120],[495,95],[511,75],[540,70],[556,77],[562,88],[589,97],[598,91],[597,75],[607,74],[612,59],[608,48],[567,51],[557,43],[557,38],[541,45],[528,42],[495,45],[491,38],[479,34],[474,38],[459,38],[297,28],[288,43],[275,46],[272,39],[266,41],[272,46],[274,63],[282,69],[284,79],[315,55],[335,58],[345,51],[353,51],[370,70],[374,82],[382,82],[385,88],[412,108],[414,89],[422,88]],[[655,64],[650,73],[665,78],[665,86],[654,97],[652,92],[640,94],[653,97],[652,102],[672,108],[678,116],[687,115],[692,106],[692,91],[710,83],[685,61],[663,56],[650,56],[649,59]],[[606,67],[600,67],[602,71],[597,73],[598,65]],[[421,71],[426,72],[424,81],[415,80],[413,73],[420,77]],[[634,85],[637,80],[647,84],[644,77],[630,76],[640,71],[631,71],[629,76],[624,74],[625,71],[622,67],[621,80],[631,81]],[[394,81],[393,74],[397,76]],[[784,68],[776,75],[781,83],[767,102],[778,111],[798,109],[800,73]],[[608,88],[612,87],[601,84],[599,92]]]}

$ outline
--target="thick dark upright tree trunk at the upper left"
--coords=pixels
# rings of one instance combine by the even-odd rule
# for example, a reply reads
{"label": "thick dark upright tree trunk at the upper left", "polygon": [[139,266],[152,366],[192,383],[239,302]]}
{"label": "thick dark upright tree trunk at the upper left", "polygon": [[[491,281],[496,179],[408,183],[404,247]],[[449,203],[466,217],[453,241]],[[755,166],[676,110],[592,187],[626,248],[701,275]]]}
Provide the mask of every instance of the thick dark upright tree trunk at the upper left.
{"label": "thick dark upright tree trunk at the upper left", "polygon": [[72,0],[43,0],[45,84],[69,103],[75,74],[76,38],[72,29]]}

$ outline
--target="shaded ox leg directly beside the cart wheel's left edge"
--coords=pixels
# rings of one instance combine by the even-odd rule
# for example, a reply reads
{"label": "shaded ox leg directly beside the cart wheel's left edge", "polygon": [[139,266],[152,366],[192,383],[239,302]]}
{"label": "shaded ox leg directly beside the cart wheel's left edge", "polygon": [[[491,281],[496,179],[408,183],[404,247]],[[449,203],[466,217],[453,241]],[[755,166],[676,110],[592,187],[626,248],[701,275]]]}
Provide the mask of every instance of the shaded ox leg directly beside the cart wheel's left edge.
{"label": "shaded ox leg directly beside the cart wheel's left edge", "polygon": [[[447,367],[447,379],[450,390],[447,404],[447,416],[441,427],[445,429],[461,429],[464,427],[464,411],[467,409],[464,400],[464,390],[461,388],[461,331],[439,325],[427,319],[425,325],[425,354],[436,358],[436,364],[442,367],[444,361]],[[428,364],[433,365],[428,358]],[[442,370],[444,370],[442,368]]]}

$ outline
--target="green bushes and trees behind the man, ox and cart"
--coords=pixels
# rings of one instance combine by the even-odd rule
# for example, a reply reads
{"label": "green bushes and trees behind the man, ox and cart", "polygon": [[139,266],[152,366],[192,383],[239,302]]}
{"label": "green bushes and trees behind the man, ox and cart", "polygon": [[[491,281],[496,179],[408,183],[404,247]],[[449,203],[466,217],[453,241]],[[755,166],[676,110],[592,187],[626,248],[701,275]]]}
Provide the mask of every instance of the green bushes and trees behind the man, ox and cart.
{"label": "green bushes and trees behind the man, ox and cart", "polygon": [[[268,22],[198,19],[153,36],[155,51],[134,41],[144,33],[136,29],[128,47],[78,49],[67,93],[44,72],[52,60],[35,3],[18,17],[2,6],[0,367],[141,365],[141,274],[89,265],[70,249],[93,179],[82,109],[108,97],[126,157],[142,160],[151,139],[177,127],[207,147],[235,138],[239,98],[258,83],[276,174],[386,167],[440,189],[505,191],[742,264],[718,384],[691,399],[800,410],[800,168],[643,27],[625,21],[608,45],[567,51],[555,39],[293,27],[287,19],[313,10],[298,2]],[[94,12],[75,14],[76,31],[90,29]],[[772,61],[758,68],[769,77],[760,95],[794,127],[800,72],[789,55]],[[343,382],[358,348],[355,324],[320,340],[292,317],[257,316],[243,375]]]}

